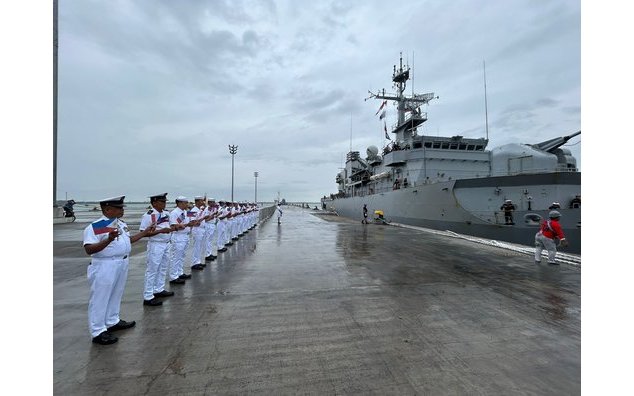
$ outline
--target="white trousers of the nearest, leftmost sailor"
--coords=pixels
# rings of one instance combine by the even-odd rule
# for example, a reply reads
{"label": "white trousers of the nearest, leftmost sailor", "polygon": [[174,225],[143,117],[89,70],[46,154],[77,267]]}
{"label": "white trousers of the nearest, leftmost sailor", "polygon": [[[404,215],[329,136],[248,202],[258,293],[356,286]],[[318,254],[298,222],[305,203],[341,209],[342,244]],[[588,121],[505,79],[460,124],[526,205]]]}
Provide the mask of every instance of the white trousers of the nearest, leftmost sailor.
{"label": "white trousers of the nearest, leftmost sailor", "polygon": [[88,328],[97,337],[119,323],[121,298],[128,278],[128,259],[92,258],[87,270],[90,285]]}

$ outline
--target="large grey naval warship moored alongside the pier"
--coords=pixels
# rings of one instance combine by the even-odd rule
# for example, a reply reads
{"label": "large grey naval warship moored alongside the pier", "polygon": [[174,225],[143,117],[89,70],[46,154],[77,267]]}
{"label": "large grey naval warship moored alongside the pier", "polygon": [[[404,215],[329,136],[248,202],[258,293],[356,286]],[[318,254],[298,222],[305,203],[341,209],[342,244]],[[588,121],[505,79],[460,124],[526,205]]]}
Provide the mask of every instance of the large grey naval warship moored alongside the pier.
{"label": "large grey naval warship moored alongside the pier", "polygon": [[[335,179],[338,191],[324,196],[322,207],[362,219],[366,204],[369,213],[381,211],[388,222],[533,245],[540,221],[559,203],[569,241],[563,251],[580,254],[581,172],[562,146],[581,131],[492,150],[487,149],[487,138],[419,135],[418,128],[427,121],[421,106],[437,97],[405,95],[409,78],[410,68],[403,66],[401,55],[392,75],[396,92],[370,92],[366,100],[382,100],[381,108],[396,102],[394,138],[381,153],[376,146],[368,147],[365,158],[358,151],[348,152],[345,168]],[[507,200],[515,205],[512,222],[501,209]]]}

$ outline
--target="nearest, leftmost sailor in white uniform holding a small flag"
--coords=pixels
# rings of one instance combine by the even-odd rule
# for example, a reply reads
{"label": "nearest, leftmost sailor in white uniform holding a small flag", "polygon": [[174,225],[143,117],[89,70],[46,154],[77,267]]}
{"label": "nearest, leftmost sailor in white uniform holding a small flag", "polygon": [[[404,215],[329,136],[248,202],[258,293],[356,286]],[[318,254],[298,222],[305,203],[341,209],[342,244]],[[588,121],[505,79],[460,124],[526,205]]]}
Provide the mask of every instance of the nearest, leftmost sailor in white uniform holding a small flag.
{"label": "nearest, leftmost sailor in white uniform holding a small flag", "polygon": [[119,317],[121,298],[128,278],[128,255],[131,244],[147,236],[153,228],[130,236],[120,217],[123,216],[125,196],[107,198],[99,202],[102,216],[84,229],[84,249],[91,256],[88,266],[90,301],[88,327],[92,342],[109,345],[117,342],[113,331],[134,327]]}

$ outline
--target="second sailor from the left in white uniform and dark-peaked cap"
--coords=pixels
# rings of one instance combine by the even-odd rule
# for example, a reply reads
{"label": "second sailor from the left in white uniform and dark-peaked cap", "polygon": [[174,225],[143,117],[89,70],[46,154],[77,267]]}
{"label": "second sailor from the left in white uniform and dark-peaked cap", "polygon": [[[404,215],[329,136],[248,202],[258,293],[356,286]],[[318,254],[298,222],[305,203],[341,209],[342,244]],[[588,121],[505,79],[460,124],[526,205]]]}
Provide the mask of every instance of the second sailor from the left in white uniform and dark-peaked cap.
{"label": "second sailor from the left in white uniform and dark-peaked cap", "polygon": [[143,289],[143,305],[162,305],[157,297],[170,297],[174,292],[165,290],[165,275],[170,262],[169,212],[165,210],[167,193],[150,197],[152,209],[141,217],[140,231],[154,227],[148,235],[147,269],[145,270],[145,286]]}

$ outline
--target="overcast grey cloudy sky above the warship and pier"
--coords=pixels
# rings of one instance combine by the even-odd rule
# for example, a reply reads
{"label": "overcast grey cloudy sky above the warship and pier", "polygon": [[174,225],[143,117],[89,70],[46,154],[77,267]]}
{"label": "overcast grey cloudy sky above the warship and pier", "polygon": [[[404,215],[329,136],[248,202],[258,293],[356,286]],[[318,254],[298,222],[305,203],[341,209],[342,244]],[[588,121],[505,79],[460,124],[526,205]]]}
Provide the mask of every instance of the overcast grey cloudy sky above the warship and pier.
{"label": "overcast grey cloudy sky above the warship and pier", "polygon": [[[57,197],[168,192],[318,201],[350,149],[382,146],[400,52],[433,92],[419,134],[489,149],[581,129],[578,1],[59,4]],[[390,105],[388,128],[396,121]],[[581,168],[581,139],[569,145]]]}

